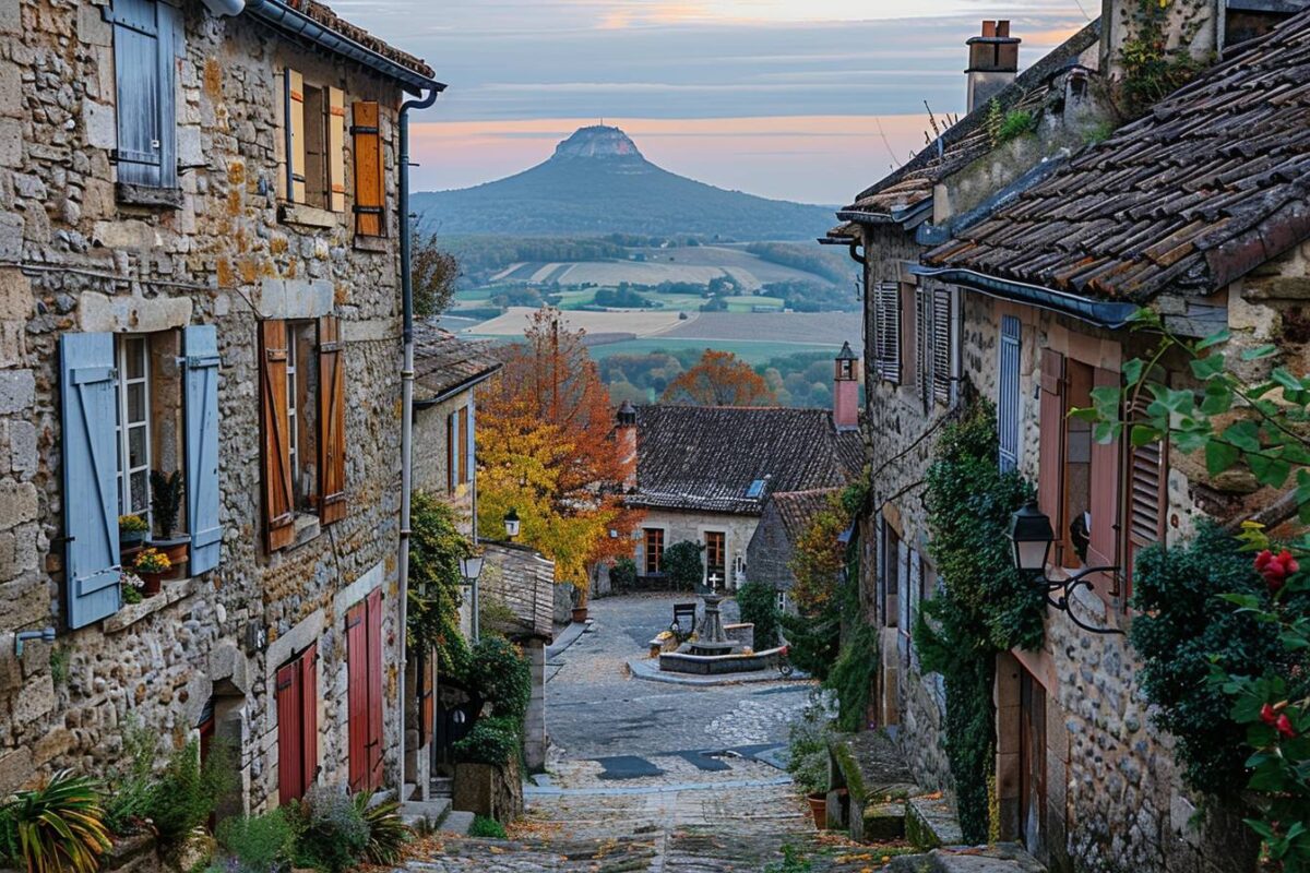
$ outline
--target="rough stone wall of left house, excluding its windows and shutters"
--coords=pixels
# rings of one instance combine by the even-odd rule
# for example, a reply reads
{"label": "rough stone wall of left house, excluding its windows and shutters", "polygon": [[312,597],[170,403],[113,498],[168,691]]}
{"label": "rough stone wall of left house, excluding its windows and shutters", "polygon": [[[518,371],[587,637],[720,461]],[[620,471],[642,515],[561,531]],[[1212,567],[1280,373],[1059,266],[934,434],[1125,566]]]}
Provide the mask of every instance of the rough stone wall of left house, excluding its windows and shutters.
{"label": "rough stone wall of left house, excluding its windows and shutters", "polygon": [[[396,780],[396,569],[400,85],[279,38],[249,14],[182,4],[176,58],[177,205],[115,191],[113,25],[103,3],[0,7],[0,631],[56,627],[54,647],[0,649],[0,789],[38,771],[103,772],[136,719],[161,747],[195,733],[207,703],[240,745],[249,809],[276,804],[274,673],[318,645],[320,783],[347,764],[345,611],[381,589],[386,781]],[[282,71],[377,101],[390,237],[362,238],[348,211],[286,205]],[[347,122],[348,124],[348,122]],[[346,166],[352,165],[346,137]],[[346,174],[346,203],[354,202]],[[263,546],[257,335],[266,318],[342,322],[346,517],[297,521]],[[221,559],[199,579],[77,631],[66,582],[58,340],[215,325],[221,359]],[[166,369],[166,368],[165,368]],[[176,455],[176,450],[174,450]],[[159,457],[159,452],[157,452]],[[166,459],[166,458],[165,458]],[[252,644],[262,631],[266,645]]]}

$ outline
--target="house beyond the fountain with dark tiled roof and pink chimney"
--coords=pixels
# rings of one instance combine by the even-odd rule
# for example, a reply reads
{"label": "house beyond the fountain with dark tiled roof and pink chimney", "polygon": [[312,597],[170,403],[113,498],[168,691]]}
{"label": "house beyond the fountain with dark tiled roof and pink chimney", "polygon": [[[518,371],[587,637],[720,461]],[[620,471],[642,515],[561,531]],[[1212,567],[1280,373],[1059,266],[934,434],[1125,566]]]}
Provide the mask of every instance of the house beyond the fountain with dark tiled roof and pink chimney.
{"label": "house beyond the fountain with dark tiled roof and pink chimney", "polygon": [[637,457],[626,503],[645,513],[633,554],[643,584],[664,579],[667,547],[693,542],[703,547],[703,582],[735,590],[751,577],[747,547],[773,495],[838,488],[859,474],[861,382],[849,346],[833,378],[832,410],[620,408],[618,450]]}

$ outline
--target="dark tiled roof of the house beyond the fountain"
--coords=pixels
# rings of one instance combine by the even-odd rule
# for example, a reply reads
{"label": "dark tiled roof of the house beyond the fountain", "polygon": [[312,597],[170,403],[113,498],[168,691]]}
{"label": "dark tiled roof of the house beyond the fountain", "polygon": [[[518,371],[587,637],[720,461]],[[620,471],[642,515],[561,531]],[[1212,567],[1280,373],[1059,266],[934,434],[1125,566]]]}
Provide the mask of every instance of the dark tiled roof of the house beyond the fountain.
{"label": "dark tiled roof of the house beyond the fountain", "polygon": [[[637,407],[631,505],[758,514],[770,493],[834,488],[863,465],[858,431],[828,410]],[[765,482],[758,496],[751,484]]]}

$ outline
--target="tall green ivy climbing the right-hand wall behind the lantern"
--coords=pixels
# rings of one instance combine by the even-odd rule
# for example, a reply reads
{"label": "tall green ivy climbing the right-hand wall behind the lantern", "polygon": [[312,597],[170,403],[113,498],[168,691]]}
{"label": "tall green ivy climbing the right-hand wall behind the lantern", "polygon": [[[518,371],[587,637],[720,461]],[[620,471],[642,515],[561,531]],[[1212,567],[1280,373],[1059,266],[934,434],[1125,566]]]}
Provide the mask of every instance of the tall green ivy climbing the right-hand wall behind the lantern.
{"label": "tall green ivy climbing the right-hand wall behind the lantern", "polygon": [[1017,472],[997,466],[996,412],[972,406],[948,425],[927,471],[929,552],[942,589],[924,603],[914,647],[946,685],[946,749],[964,839],[988,839],[988,779],[996,762],[992,686],[996,656],[1041,645],[1043,592],[1010,556],[1010,514],[1032,499]]}

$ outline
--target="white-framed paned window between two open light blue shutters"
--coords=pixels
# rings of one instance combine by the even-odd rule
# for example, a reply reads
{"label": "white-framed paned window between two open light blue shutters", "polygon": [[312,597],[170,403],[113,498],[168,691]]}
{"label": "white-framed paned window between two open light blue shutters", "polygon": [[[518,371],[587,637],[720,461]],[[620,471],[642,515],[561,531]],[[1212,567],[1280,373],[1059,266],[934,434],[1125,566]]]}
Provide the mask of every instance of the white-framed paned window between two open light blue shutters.
{"label": "white-framed paned window between two open light blue shutters", "polygon": [[151,512],[151,380],[149,348],[144,336],[118,342],[118,514]]}

